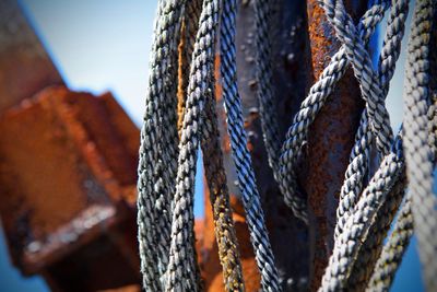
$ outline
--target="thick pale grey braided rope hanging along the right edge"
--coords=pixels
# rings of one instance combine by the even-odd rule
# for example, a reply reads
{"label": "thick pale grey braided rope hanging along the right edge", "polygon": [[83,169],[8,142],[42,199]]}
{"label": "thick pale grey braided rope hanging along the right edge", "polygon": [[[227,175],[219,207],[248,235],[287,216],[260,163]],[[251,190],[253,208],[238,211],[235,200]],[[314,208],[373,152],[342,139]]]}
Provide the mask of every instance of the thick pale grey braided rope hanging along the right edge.
{"label": "thick pale grey braided rope hanging along the right edge", "polygon": [[428,143],[427,113],[429,34],[434,1],[416,1],[408,48],[404,82],[404,136],[406,175],[412,197],[424,282],[437,290],[437,200],[433,194],[433,151]]}

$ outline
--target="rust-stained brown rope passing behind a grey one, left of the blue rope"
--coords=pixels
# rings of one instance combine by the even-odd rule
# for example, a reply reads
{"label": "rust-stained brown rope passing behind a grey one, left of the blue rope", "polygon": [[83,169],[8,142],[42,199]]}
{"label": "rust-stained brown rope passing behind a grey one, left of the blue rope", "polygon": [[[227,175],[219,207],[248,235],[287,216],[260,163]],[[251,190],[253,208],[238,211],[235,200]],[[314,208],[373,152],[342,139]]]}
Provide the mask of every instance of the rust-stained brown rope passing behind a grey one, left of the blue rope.
{"label": "rust-stained brown rope passing behind a grey one, left of the blue rope", "polygon": [[[189,70],[196,32],[198,30],[199,16],[201,12],[200,1],[189,1],[187,12],[184,15],[184,28],[186,31],[185,46],[179,47],[179,56],[182,56],[181,78],[182,84],[179,87],[179,119],[178,125],[181,129],[184,122],[184,112],[186,107],[185,89],[188,85],[188,78],[184,78],[184,72]],[[215,91],[212,92],[215,96]],[[213,210],[213,221],[215,238],[217,241],[218,257],[223,266],[223,279],[226,291],[244,291],[243,273],[237,248],[234,221],[229,205],[229,194],[226,185],[226,174],[223,166],[223,154],[218,142],[218,129],[216,114],[213,110],[215,97],[209,98],[204,117],[205,125],[202,127],[201,149],[204,155],[204,168],[208,186],[210,189],[210,201]],[[196,249],[193,250],[196,252]],[[198,277],[200,278],[200,277]]]}

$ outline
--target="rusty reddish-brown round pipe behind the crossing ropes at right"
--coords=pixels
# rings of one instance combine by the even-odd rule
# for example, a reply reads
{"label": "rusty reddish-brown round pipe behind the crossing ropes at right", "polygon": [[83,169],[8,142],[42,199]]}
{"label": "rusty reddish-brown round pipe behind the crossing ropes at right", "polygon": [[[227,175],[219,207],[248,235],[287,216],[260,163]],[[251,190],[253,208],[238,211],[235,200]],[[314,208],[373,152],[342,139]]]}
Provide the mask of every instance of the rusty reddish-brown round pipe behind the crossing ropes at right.
{"label": "rusty reddish-brown round pipe behind the crossing ropes at right", "polygon": [[[346,1],[356,20],[367,1]],[[307,2],[312,80],[317,80],[340,43],[317,0]],[[333,245],[335,210],[364,102],[352,69],[336,85],[309,130],[305,175],[300,180],[315,215],[311,290],[320,285]]]}

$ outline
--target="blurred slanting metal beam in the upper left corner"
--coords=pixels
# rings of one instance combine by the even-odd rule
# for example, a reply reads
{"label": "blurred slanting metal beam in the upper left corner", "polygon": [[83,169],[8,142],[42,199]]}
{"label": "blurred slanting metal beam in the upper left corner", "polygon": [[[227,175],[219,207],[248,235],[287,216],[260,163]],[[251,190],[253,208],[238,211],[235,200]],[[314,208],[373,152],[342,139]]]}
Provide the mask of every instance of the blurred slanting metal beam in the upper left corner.
{"label": "blurred slanting metal beam in the upper left corner", "polygon": [[0,113],[62,83],[16,0],[0,1]]}

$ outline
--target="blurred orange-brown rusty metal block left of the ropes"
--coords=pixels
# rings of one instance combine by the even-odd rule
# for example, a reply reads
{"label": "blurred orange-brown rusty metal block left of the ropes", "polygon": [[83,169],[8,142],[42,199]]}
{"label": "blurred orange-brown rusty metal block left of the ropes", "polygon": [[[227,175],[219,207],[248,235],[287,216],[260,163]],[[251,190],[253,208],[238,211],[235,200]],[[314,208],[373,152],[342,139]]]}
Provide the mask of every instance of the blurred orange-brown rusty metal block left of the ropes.
{"label": "blurred orange-brown rusty metal block left of the ropes", "polygon": [[139,283],[139,130],[114,97],[49,87],[4,112],[0,131],[0,214],[13,262],[55,291]]}

